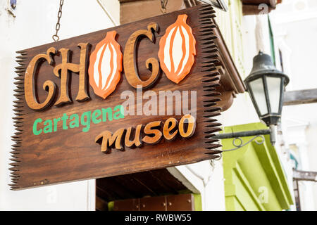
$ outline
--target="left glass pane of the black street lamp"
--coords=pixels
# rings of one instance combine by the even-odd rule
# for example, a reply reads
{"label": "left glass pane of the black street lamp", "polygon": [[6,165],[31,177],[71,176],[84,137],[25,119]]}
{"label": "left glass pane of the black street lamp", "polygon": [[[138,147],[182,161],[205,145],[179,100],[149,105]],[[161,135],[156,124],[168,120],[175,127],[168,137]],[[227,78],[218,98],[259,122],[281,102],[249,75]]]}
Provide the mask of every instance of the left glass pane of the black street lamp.
{"label": "left glass pane of the black street lamp", "polygon": [[254,96],[254,101],[260,110],[260,114],[264,115],[268,113],[268,107],[266,105],[266,94],[264,92],[264,84],[263,79],[254,79],[249,82],[249,86],[251,88],[252,94]]}

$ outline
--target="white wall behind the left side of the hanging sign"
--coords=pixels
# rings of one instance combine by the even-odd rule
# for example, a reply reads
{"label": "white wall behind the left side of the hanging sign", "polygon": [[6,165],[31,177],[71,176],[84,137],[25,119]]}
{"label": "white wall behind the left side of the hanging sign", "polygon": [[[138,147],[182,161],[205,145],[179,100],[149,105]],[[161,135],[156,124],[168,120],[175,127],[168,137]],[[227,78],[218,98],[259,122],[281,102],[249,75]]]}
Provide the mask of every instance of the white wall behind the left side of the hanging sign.
{"label": "white wall behind the left side of the hanging sign", "polygon": [[[116,1],[116,0],[111,0]],[[55,32],[59,1],[17,1],[15,18],[7,0],[0,0],[0,210],[94,210],[94,180],[11,191],[8,163],[13,135],[15,51],[50,43]],[[111,7],[111,6],[108,6]],[[118,14],[118,8],[108,8]],[[97,1],[66,0],[61,39],[113,27]]]}

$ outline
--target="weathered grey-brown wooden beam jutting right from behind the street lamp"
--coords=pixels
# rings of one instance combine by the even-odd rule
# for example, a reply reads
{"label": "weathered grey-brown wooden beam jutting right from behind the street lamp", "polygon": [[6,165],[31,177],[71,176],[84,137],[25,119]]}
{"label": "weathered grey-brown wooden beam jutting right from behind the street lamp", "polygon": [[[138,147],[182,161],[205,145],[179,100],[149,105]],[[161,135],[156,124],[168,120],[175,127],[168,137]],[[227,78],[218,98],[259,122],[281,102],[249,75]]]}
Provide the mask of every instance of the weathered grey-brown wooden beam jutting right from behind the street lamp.
{"label": "weathered grey-brown wooden beam jutting right from behind the street lamp", "polygon": [[317,103],[317,89],[286,91],[283,105]]}

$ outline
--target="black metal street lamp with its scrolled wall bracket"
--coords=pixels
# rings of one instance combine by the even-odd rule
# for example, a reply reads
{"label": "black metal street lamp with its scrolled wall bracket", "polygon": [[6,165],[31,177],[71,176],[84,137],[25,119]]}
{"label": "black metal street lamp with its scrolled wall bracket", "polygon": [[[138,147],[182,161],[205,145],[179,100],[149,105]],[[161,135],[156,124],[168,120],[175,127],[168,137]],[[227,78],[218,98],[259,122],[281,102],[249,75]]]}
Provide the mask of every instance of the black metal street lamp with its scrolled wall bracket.
{"label": "black metal street lamp with its scrolled wall bracket", "polygon": [[[249,92],[251,101],[254,104],[254,108],[256,109],[256,113],[259,115],[260,120],[265,122],[266,126],[270,128],[218,134],[213,136],[213,139],[240,139],[242,136],[255,136],[251,139],[252,141],[257,136],[270,134],[271,143],[274,145],[275,126],[280,121],[285,86],[288,82],[290,82],[290,78],[275,68],[271,56],[259,51],[259,54],[253,58],[253,68],[250,75],[244,79],[244,83],[247,86],[247,91]],[[233,142],[234,145],[235,139]],[[250,142],[248,141],[247,143],[242,144],[242,139],[240,139],[240,141],[240,145],[235,145],[237,148],[241,148]]]}

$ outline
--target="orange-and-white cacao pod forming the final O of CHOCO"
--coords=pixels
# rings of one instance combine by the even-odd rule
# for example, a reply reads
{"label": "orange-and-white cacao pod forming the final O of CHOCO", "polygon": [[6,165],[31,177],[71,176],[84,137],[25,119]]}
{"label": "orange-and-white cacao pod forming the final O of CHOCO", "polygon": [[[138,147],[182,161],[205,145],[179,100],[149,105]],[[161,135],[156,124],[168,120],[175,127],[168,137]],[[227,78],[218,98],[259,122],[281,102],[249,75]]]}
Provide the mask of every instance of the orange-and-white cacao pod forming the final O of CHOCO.
{"label": "orange-and-white cacao pod forming the final O of CHOCO", "polygon": [[178,84],[189,74],[196,55],[196,40],[186,23],[187,15],[178,15],[160,40],[159,59],[168,79]]}

